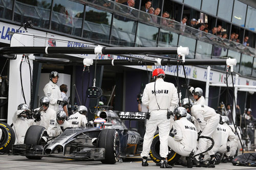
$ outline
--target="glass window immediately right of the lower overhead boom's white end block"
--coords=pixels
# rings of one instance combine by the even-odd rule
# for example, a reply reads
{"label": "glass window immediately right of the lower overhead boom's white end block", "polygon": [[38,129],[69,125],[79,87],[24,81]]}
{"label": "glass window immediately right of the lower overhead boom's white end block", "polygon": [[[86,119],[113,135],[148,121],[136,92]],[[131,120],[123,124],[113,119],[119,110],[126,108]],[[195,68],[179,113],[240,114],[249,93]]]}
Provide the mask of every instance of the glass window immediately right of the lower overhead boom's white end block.
{"label": "glass window immediately right of the lower overhead boom's white end block", "polygon": [[251,76],[252,60],[253,60],[253,57],[242,54],[241,66],[240,66],[241,75]]}

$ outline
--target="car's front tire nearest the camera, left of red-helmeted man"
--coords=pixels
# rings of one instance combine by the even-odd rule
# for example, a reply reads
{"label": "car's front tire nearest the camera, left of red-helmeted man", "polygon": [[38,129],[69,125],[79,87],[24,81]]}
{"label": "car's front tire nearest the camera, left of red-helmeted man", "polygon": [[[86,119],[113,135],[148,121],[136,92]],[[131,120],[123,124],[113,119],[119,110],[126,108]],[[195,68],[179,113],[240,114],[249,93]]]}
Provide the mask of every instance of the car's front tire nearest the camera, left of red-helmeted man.
{"label": "car's front tire nearest the camera, left of red-helmeted man", "polygon": [[105,164],[114,164],[120,155],[120,138],[115,129],[103,129],[99,134],[99,148],[105,148]]}

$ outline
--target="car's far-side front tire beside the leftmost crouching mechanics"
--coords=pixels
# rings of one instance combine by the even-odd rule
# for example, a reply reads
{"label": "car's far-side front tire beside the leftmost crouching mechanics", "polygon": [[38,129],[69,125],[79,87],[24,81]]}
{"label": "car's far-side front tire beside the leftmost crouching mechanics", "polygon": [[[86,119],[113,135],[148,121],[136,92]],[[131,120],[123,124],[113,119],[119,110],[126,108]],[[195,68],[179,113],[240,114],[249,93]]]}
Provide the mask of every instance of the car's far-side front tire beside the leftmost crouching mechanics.
{"label": "car's far-side front tire beside the leftmost crouching mechanics", "polygon": [[[26,132],[24,144],[32,144],[32,145],[41,145],[42,141],[42,135],[44,135],[46,132],[46,128],[38,125],[32,125],[29,127],[29,129]],[[41,156],[26,156],[28,159],[34,159],[39,160],[42,157]]]}

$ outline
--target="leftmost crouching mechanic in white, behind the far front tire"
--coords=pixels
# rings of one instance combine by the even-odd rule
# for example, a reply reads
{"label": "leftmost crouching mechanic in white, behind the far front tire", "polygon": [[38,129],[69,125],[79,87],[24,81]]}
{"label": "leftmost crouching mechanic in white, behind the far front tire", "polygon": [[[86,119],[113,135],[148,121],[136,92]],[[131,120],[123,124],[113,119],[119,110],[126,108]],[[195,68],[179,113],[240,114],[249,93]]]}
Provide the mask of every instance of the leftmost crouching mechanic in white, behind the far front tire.
{"label": "leftmost crouching mechanic in white, behind the far front tire", "polygon": [[23,144],[29,127],[36,125],[34,119],[32,119],[32,112],[29,110],[29,106],[26,104],[18,105],[18,109],[12,117],[12,122],[13,130],[16,134],[16,144]]}

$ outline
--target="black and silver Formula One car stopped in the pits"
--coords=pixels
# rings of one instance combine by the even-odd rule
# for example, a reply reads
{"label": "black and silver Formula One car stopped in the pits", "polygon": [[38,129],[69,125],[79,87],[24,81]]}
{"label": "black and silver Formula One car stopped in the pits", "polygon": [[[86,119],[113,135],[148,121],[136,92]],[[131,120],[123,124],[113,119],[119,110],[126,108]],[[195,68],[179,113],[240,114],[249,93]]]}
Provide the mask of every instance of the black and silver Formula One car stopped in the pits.
{"label": "black and silver Formula One car stopped in the pits", "polygon": [[143,139],[138,132],[126,128],[118,113],[101,111],[99,117],[105,119],[106,123],[96,127],[67,128],[59,136],[49,137],[47,141],[44,127],[31,126],[26,133],[25,144],[13,145],[12,154],[29,159],[47,156],[101,160],[102,163],[110,164],[116,163],[119,156],[138,155]]}

